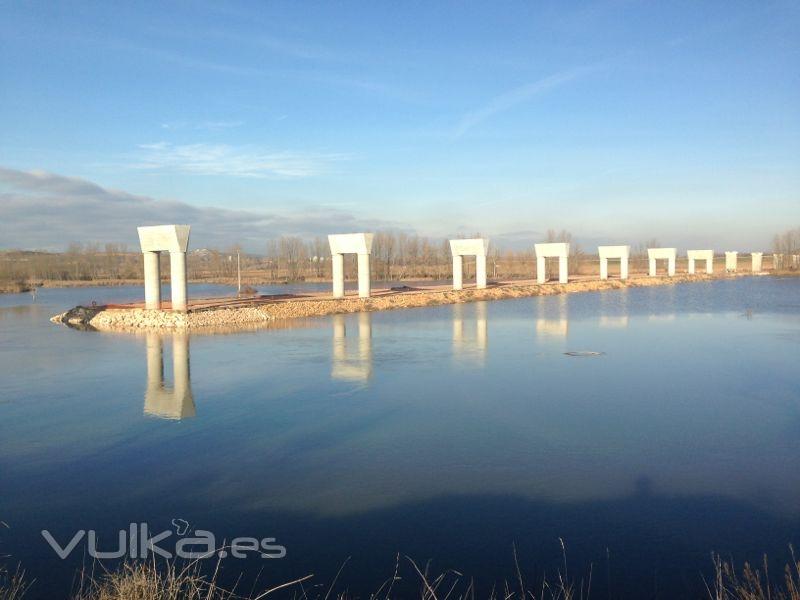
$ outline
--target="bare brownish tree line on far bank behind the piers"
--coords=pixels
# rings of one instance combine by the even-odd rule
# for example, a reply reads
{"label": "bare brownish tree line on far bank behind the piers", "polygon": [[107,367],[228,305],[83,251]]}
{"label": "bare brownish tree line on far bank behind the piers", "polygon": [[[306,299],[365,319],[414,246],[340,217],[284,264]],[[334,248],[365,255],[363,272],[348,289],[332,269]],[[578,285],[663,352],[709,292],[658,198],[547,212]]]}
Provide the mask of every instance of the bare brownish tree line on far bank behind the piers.
{"label": "bare brownish tree line on far bank behind the piers", "polygon": [[[469,237],[481,237],[476,233]],[[580,273],[597,262],[585,253],[568,231],[550,230],[548,242],[570,243],[570,271]],[[656,239],[632,248],[632,269],[645,267],[647,248],[659,247]],[[776,234],[773,251],[778,254],[800,253],[800,227]],[[281,236],[269,240],[264,254],[244,253],[238,245],[222,250],[192,250],[187,256],[193,280],[230,283],[236,278],[237,264],[247,283],[319,281],[330,277],[330,249],[326,237],[303,239]],[[490,246],[487,275],[495,279],[530,278],[535,269],[533,244],[523,249]],[[465,257],[465,277],[474,276],[474,259]],[[402,231],[375,233],[370,260],[376,281],[409,279],[447,279],[451,276],[452,257],[446,239],[435,239]],[[346,257],[345,275],[355,277],[355,258]],[[169,259],[162,256],[162,273],[169,274]],[[8,250],[0,252],[0,281],[139,281],[142,279],[141,253],[121,244],[70,244],[64,252]]]}

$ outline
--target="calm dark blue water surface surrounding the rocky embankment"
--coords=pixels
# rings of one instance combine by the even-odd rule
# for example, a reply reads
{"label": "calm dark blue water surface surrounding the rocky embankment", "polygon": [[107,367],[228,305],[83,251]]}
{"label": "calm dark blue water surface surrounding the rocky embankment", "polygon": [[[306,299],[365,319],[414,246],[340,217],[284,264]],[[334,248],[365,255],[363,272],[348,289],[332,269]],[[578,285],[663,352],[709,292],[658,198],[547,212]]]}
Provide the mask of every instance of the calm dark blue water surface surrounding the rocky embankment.
{"label": "calm dark blue water surface surrounding the rocky embankment", "polygon": [[[516,545],[535,580],[560,538],[573,576],[593,565],[593,598],[693,597],[712,551],[778,564],[800,542],[800,279],[213,336],[47,321],[140,295],[0,296],[0,555],[34,597],[63,596],[86,560],[85,539],[61,561],[42,529],[110,550],[131,522],[277,538],[283,559],[223,561],[262,587],[351,557],[359,594],[397,553],[485,589],[514,577]],[[603,354],[564,354],[584,350]]]}

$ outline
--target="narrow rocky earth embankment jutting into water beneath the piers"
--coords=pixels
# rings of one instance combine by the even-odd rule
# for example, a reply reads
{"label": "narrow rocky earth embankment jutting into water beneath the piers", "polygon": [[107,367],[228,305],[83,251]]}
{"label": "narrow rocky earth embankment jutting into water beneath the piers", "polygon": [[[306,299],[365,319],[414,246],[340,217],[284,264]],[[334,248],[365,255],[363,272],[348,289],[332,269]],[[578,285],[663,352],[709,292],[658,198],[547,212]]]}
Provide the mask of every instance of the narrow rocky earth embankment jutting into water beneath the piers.
{"label": "narrow rocky earth embankment jutting into water beneath the piers", "polygon": [[453,290],[447,286],[407,286],[373,291],[370,298],[346,296],[332,298],[329,294],[255,296],[249,298],[196,299],[186,312],[171,310],[148,310],[141,304],[75,307],[53,316],[53,323],[79,329],[98,331],[146,331],[146,330],[252,330],[274,327],[276,323],[289,319],[305,319],[333,314],[376,312],[406,308],[422,308],[464,302],[505,300],[551,296],[636,287],[656,287],[734,279],[739,277],[763,277],[762,274],[695,274],[673,277],[631,277],[619,279],[585,279],[569,283],[500,282],[485,289],[467,288]]}

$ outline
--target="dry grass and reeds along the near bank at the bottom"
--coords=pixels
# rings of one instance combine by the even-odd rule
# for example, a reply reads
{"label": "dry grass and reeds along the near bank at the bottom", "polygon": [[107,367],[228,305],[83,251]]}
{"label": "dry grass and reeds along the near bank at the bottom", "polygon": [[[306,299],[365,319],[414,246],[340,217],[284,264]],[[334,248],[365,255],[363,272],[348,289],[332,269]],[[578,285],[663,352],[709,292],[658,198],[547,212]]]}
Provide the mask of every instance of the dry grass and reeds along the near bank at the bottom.
{"label": "dry grass and reeds along the near bank at the bottom", "polygon": [[[792,560],[784,567],[782,576],[773,581],[766,556],[759,567],[745,563],[741,571],[718,555],[713,557],[714,579],[706,582],[710,600],[800,600],[800,561],[791,553]],[[516,563],[516,557],[515,557]],[[408,579],[400,575],[401,565]],[[344,565],[343,565],[344,567]],[[219,564],[217,564],[217,569]],[[315,584],[313,575],[255,592],[242,592],[223,588],[217,583],[218,570],[209,576],[201,573],[198,562],[185,567],[174,563],[127,562],[115,571],[83,572],[79,589],[72,600],[263,600],[269,597],[293,600],[351,600],[346,587],[337,589],[339,575],[328,585]],[[340,569],[340,574],[341,574]],[[541,584],[531,586],[523,578],[519,567],[516,579],[495,586],[481,600],[585,600],[591,596],[591,568],[587,577],[575,581],[568,577],[566,562],[563,572],[545,578]],[[457,571],[432,574],[429,566],[419,566],[411,559],[398,556],[394,574],[387,578],[369,600],[391,600],[397,597],[414,597],[407,584],[418,589],[420,600],[476,600],[473,580]],[[398,590],[405,584],[403,592]],[[341,584],[339,584],[341,585]],[[0,570],[0,600],[22,600],[30,588],[24,574],[18,569],[10,573]]]}

